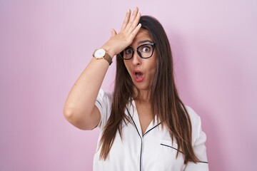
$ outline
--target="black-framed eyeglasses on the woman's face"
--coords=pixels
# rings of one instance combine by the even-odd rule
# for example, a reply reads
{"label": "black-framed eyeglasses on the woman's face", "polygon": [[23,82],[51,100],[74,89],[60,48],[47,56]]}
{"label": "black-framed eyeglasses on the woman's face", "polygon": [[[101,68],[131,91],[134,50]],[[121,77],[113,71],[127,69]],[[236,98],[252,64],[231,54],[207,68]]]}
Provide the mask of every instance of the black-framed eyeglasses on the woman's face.
{"label": "black-framed eyeglasses on the woman's face", "polygon": [[134,51],[136,51],[138,53],[138,56],[140,56],[141,58],[150,58],[151,56],[153,56],[154,47],[155,43],[142,44],[136,49],[133,49],[129,46],[125,48],[124,51],[119,53],[119,56],[124,60],[129,60],[133,57]]}

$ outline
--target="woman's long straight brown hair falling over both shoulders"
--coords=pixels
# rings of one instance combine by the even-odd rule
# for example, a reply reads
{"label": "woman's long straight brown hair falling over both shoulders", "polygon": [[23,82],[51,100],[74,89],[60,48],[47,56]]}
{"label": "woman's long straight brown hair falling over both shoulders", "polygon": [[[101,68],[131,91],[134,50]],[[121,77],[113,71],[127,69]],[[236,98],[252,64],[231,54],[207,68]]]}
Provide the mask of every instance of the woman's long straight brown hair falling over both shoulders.
{"label": "woman's long straight brown hair falling over both shoulders", "polygon": [[[156,75],[151,87],[151,108],[153,118],[155,115],[161,120],[162,126],[168,128],[171,138],[176,138],[178,150],[185,156],[184,163],[188,161],[199,162],[192,147],[192,128],[188,112],[178,97],[174,76],[171,46],[163,26],[151,16],[141,16],[139,21],[142,28],[149,31],[153,42],[156,43],[157,65]],[[134,97],[133,82],[129,76],[123,59],[116,57],[116,81],[114,86],[111,115],[104,127],[100,140],[100,157],[106,160],[114,142],[117,131],[121,135],[121,123],[129,120],[125,114],[126,104]],[[121,135],[122,138],[122,135]],[[178,157],[178,152],[177,155]]]}

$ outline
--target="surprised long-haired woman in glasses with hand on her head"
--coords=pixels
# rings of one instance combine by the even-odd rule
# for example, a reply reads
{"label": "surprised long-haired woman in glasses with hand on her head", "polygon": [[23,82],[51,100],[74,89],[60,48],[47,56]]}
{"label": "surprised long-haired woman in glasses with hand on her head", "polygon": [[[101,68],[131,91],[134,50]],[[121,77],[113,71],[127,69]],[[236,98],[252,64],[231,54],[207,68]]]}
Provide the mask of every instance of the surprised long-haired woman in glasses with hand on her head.
{"label": "surprised long-haired woman in glasses with hand on her head", "polygon": [[[116,56],[114,93],[101,90]],[[101,130],[94,170],[208,170],[201,119],[183,105],[161,24],[127,11],[120,33],[94,51],[69,93],[64,115],[82,130]]]}

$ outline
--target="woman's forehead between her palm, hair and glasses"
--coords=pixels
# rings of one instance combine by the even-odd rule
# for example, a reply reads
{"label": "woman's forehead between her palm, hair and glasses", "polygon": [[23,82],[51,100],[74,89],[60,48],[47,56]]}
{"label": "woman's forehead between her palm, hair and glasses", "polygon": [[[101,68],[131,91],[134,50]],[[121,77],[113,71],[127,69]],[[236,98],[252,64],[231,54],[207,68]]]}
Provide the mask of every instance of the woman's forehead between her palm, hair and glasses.
{"label": "woman's forehead between her palm, hair and glasses", "polygon": [[138,46],[146,42],[153,42],[153,38],[151,38],[151,35],[148,30],[140,28],[140,30],[136,34],[136,37],[133,39],[131,46]]}

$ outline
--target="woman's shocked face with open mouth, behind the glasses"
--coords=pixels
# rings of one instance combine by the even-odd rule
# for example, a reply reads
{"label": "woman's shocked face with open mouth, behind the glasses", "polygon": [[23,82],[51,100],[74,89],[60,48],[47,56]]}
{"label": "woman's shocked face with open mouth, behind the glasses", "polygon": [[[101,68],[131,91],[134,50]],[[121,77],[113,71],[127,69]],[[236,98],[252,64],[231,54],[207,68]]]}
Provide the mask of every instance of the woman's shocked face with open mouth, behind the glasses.
{"label": "woman's shocked face with open mouth, behind the glasses", "polygon": [[[141,28],[130,47],[136,49],[146,43],[153,43],[153,40],[149,32]],[[140,48],[139,51],[148,51],[148,48]],[[153,55],[150,58],[141,58],[137,51],[134,51],[131,59],[124,60],[126,69],[129,71],[133,84],[138,90],[151,90],[156,73],[156,58],[156,51],[153,51]]]}

